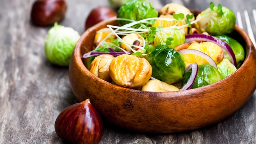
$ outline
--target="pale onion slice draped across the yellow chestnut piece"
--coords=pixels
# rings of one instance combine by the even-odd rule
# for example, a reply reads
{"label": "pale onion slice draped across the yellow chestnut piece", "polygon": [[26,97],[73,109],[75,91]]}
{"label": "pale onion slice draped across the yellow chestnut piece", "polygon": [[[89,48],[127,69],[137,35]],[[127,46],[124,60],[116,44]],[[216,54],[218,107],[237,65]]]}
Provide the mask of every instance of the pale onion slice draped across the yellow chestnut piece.
{"label": "pale onion slice draped across the yellow chestnut piece", "polygon": [[198,51],[198,50],[194,50],[194,49],[182,49],[178,51],[180,54],[184,55],[184,54],[193,54],[193,55],[198,55],[202,58],[204,58],[210,65],[214,66],[216,69],[218,69],[216,63],[214,62],[214,60],[207,54]]}

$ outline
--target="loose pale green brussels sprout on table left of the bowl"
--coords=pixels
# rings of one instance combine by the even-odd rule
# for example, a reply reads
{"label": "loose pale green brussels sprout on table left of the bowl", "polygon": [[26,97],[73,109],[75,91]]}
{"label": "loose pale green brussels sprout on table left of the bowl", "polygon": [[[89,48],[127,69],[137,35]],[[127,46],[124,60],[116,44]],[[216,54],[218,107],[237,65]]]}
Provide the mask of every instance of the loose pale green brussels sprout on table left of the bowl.
{"label": "loose pale green brussels sprout on table left of the bowl", "polygon": [[68,66],[80,35],[74,29],[58,25],[49,30],[45,39],[46,58],[55,65]]}

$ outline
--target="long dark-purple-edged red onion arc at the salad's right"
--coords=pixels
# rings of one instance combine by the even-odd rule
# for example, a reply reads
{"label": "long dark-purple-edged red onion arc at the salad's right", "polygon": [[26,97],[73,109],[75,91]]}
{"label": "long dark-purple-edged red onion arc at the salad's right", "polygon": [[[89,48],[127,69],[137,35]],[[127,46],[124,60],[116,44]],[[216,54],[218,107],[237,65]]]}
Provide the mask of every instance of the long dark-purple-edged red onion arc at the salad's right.
{"label": "long dark-purple-edged red onion arc at the salad's right", "polygon": [[220,46],[221,48],[223,48],[224,50],[227,51],[228,55],[230,56],[232,64],[234,66],[236,66],[235,54],[234,54],[232,48],[224,41],[222,41],[216,37],[213,37],[210,35],[205,35],[205,34],[186,35],[185,43],[190,43],[192,41],[207,41],[207,42],[213,42],[213,43],[217,44],[218,46]]}

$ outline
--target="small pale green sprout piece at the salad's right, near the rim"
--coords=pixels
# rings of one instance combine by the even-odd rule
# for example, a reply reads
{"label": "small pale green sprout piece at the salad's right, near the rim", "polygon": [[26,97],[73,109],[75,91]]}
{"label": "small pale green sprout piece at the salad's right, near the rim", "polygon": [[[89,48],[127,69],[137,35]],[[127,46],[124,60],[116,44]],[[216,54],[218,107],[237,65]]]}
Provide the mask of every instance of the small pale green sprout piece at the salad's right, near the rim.
{"label": "small pale green sprout piece at the salad's right, near the rim", "polygon": [[237,70],[236,67],[228,59],[223,59],[220,63],[217,64],[217,67],[222,76],[222,79],[226,78]]}

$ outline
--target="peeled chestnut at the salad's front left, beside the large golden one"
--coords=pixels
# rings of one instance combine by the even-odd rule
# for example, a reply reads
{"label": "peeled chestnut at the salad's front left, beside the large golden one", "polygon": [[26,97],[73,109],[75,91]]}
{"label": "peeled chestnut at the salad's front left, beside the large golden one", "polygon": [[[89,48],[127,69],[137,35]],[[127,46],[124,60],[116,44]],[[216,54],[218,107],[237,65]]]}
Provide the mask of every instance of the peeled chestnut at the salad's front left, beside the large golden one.
{"label": "peeled chestnut at the salad's front left, beside the large golden one", "polygon": [[114,59],[112,55],[99,55],[91,63],[90,72],[95,76],[111,82],[111,76],[109,74],[109,65]]}

